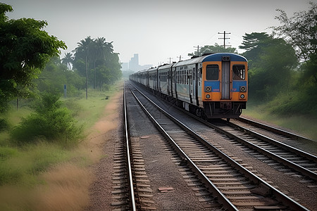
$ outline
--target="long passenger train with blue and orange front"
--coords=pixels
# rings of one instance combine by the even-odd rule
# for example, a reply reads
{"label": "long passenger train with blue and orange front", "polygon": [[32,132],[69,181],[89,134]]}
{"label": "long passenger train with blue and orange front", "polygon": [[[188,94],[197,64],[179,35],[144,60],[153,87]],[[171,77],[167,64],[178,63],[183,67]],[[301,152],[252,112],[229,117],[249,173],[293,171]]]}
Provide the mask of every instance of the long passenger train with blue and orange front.
{"label": "long passenger train with blue and orange front", "polygon": [[170,103],[204,119],[238,118],[247,108],[247,58],[211,53],[129,76]]}

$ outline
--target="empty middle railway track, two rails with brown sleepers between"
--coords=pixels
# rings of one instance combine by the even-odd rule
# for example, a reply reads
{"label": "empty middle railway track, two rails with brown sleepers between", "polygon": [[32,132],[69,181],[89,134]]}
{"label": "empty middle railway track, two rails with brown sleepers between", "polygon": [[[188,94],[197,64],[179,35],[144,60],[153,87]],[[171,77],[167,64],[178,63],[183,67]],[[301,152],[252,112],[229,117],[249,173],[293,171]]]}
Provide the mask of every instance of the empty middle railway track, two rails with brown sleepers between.
{"label": "empty middle railway track, two rails with brown sleepers between", "polygon": [[[166,139],[227,210],[307,210],[244,168],[153,102],[135,93],[139,105]],[[150,110],[150,111],[147,111]]]}

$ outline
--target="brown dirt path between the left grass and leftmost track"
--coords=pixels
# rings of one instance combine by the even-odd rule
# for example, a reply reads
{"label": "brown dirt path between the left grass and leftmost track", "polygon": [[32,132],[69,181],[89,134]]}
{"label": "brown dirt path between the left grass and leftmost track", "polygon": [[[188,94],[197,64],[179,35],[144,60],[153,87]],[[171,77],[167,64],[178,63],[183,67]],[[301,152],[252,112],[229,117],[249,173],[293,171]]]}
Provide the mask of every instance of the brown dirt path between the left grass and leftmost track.
{"label": "brown dirt path between the left grass and leftmost track", "polygon": [[[94,181],[89,187],[89,205],[85,210],[112,210],[111,189],[113,170],[113,151],[122,108],[122,94],[117,94],[105,108],[102,117],[92,128],[89,136],[89,147],[94,159],[92,174]],[[95,155],[94,155],[95,154]]]}

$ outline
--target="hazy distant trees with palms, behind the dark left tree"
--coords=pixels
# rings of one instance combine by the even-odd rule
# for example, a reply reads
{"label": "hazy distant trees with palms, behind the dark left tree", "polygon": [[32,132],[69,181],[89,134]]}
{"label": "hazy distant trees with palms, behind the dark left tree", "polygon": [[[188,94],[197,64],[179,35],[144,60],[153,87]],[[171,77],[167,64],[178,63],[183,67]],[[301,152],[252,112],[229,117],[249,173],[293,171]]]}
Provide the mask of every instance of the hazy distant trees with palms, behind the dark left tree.
{"label": "hazy distant trees with palms, behind the dark left tree", "polygon": [[57,89],[63,94],[66,85],[68,96],[77,96],[87,88],[106,90],[121,78],[118,53],[114,53],[112,42],[104,37],[87,37],[77,43],[63,58],[54,57],[35,80],[39,91]]}

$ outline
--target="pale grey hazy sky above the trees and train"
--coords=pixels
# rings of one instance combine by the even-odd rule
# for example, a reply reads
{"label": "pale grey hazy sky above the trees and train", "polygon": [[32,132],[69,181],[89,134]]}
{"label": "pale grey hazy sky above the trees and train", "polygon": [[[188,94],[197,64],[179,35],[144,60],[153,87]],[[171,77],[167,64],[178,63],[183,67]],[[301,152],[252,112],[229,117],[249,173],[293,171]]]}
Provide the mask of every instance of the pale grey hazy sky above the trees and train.
{"label": "pale grey hazy sky above the trees and train", "polygon": [[[46,20],[44,29],[66,42],[73,51],[87,36],[113,41],[120,61],[129,62],[139,54],[139,64],[154,66],[172,60],[187,59],[194,46],[226,44],[238,49],[242,36],[268,32],[280,25],[277,8],[287,15],[307,11],[309,1],[317,0],[0,0],[13,6],[9,18]],[[238,49],[238,52],[242,52]]]}

